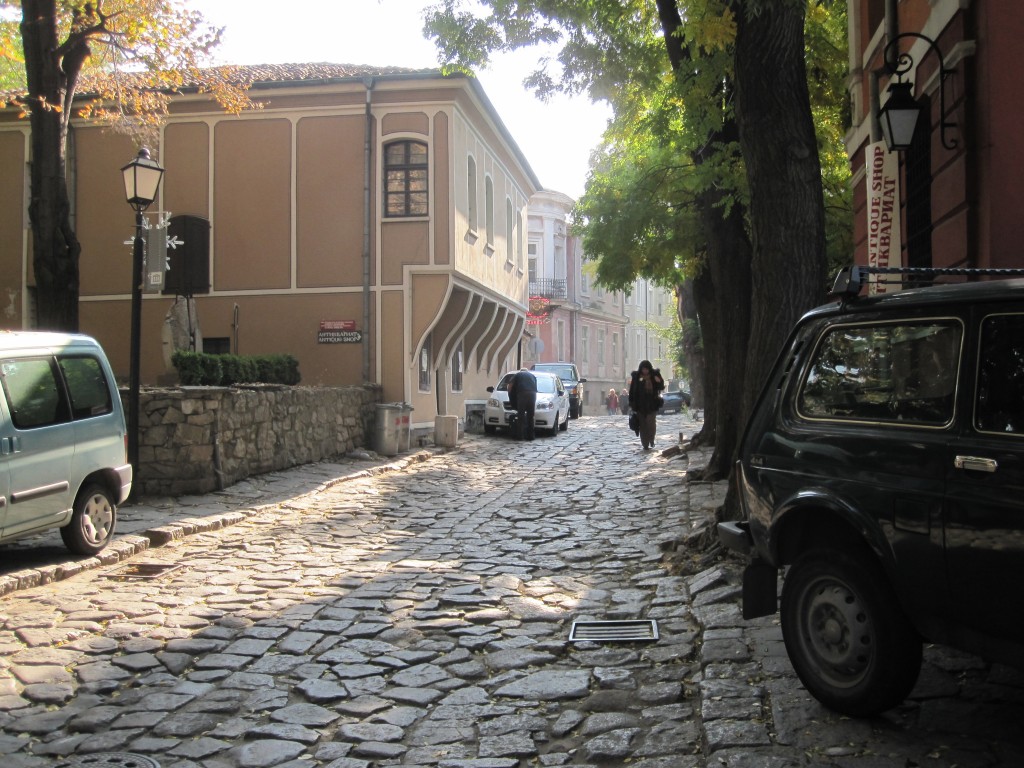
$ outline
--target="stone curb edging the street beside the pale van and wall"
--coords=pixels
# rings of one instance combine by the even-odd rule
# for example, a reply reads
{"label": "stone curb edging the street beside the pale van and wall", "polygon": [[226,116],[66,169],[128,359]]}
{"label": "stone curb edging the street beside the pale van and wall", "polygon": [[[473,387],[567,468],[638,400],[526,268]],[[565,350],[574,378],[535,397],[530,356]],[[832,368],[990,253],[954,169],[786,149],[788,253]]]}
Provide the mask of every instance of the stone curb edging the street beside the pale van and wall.
{"label": "stone curb edging the street beside the pale van and wall", "polygon": [[254,517],[255,515],[280,509],[284,504],[295,501],[296,499],[304,499],[309,496],[314,496],[315,494],[321,494],[328,488],[334,487],[335,485],[339,485],[343,482],[357,480],[364,477],[373,477],[375,475],[386,474],[388,472],[398,472],[412,464],[419,464],[427,461],[428,459],[432,459],[435,456],[440,456],[451,452],[452,449],[418,451],[412,456],[403,457],[402,459],[389,464],[382,464],[369,469],[360,469],[357,472],[351,472],[349,474],[333,477],[330,480],[322,482],[312,490],[307,490],[304,494],[298,494],[285,501],[256,505],[241,510],[210,515],[209,517],[185,517],[166,525],[148,528],[141,534],[126,534],[124,536],[119,536],[116,537],[102,552],[94,557],[88,557],[83,560],[69,560],[68,562],[53,563],[52,565],[42,565],[36,568],[26,568],[24,570],[16,570],[11,573],[0,575],[0,597],[9,595],[12,592],[32,589],[33,587],[40,587],[44,584],[51,584],[65,579],[71,579],[73,575],[77,575],[85,570],[92,570],[94,568],[100,568],[108,565],[117,565],[118,563],[124,562],[125,560],[128,560],[141,552],[145,552],[146,550],[163,547],[170,542],[180,541],[194,534],[204,534],[210,530],[226,528],[228,525],[242,522],[243,520]]}

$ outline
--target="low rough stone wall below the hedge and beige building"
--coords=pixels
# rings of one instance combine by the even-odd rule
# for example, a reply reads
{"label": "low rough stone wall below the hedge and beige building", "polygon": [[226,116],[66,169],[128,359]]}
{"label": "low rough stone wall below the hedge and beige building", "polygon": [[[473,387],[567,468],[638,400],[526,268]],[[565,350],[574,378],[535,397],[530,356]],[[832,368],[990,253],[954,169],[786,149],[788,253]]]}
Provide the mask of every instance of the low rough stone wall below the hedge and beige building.
{"label": "low rough stone wall below the hedge and beige building", "polygon": [[133,486],[143,496],[205,494],[346,454],[369,444],[380,397],[377,386],[145,388]]}

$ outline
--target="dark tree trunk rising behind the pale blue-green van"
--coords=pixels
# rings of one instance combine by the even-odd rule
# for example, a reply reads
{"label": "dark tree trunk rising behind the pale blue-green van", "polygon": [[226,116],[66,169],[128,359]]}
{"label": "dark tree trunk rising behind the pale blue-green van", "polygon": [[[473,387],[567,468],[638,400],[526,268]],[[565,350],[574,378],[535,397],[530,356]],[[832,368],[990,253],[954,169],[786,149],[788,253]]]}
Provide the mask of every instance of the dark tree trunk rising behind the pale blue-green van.
{"label": "dark tree trunk rising behind the pale blue-green van", "polygon": [[[68,78],[57,55],[55,0],[23,0],[22,39],[32,127],[33,268],[40,328],[78,330],[78,259],[66,174]],[[77,73],[76,73],[77,74]]]}

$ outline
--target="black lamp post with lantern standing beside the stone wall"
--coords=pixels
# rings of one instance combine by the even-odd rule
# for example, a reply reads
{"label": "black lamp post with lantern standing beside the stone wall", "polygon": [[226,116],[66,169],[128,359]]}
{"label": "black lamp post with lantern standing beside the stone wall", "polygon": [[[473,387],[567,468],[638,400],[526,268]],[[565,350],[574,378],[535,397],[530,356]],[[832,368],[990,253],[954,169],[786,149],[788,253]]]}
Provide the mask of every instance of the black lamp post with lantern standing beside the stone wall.
{"label": "black lamp post with lantern standing beside the stone wall", "polygon": [[128,373],[128,462],[138,472],[138,388],[139,344],[142,330],[142,211],[157,199],[164,169],[142,147],[138,157],[121,169],[125,179],[125,198],[135,209],[135,240],[132,243],[131,273],[131,349]]}

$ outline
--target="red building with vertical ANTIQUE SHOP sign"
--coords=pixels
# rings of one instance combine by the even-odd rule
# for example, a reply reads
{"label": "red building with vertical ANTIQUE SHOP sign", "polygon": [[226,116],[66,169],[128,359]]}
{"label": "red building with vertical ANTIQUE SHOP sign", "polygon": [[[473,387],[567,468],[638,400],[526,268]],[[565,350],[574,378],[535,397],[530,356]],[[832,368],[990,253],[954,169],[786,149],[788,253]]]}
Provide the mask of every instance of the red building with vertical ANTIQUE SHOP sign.
{"label": "red building with vertical ANTIQUE SHOP sign", "polygon": [[[1024,5],[851,0],[849,16],[856,262],[1024,266]],[[922,117],[889,152],[879,111],[900,80]]]}

